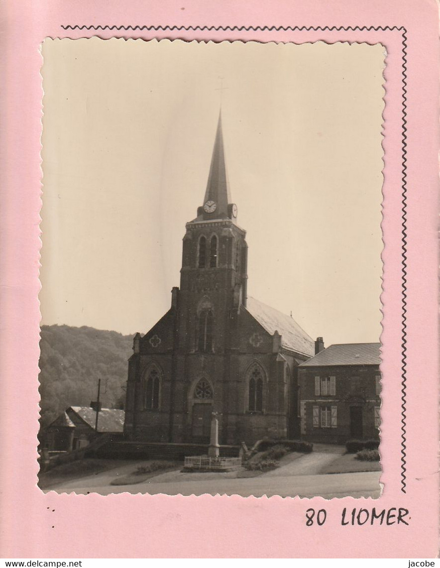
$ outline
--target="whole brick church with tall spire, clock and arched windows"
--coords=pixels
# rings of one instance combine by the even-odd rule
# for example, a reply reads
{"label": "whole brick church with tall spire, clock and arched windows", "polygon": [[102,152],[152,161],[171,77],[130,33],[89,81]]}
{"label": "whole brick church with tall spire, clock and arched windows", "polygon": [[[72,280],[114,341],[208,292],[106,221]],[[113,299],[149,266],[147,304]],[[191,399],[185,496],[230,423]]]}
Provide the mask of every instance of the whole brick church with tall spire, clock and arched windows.
{"label": "whole brick church with tall spire, clock and arched windows", "polygon": [[322,340],[248,296],[247,260],[220,115],[204,199],[186,224],[180,287],[166,314],[133,340],[127,440],[205,444],[213,413],[220,444],[300,436],[298,367]]}

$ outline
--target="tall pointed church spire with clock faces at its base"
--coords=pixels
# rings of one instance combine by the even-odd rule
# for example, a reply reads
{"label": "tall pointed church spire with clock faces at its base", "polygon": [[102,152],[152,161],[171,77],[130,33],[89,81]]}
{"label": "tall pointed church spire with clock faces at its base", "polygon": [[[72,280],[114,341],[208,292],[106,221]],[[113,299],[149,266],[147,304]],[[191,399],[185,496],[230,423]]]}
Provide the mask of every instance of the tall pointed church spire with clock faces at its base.
{"label": "tall pointed church spire with clock faces at its base", "polygon": [[231,218],[229,211],[230,203],[231,194],[229,193],[228,174],[226,171],[220,110],[215,143],[212,151],[211,168],[209,168],[208,183],[203,201],[204,218]]}

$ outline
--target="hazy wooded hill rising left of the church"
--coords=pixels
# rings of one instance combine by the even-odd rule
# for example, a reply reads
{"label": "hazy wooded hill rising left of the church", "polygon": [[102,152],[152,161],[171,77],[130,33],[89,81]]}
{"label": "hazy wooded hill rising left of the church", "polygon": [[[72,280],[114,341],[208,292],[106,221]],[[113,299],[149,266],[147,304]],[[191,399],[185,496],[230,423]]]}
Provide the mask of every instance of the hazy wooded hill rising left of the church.
{"label": "hazy wooded hill rising left of the church", "polygon": [[41,326],[41,426],[69,406],[90,406],[101,379],[103,408],[123,408],[133,336],[93,327]]}

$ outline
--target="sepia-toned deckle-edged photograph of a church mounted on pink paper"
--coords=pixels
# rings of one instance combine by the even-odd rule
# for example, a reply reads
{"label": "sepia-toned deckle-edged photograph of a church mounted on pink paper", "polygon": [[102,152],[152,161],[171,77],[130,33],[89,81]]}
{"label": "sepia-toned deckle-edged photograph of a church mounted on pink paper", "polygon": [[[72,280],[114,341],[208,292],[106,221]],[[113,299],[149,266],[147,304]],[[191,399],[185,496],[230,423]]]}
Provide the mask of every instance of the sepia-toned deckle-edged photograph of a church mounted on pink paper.
{"label": "sepia-toned deckle-edged photograph of a church mounted on pink paper", "polygon": [[383,45],[41,55],[41,490],[378,498]]}

